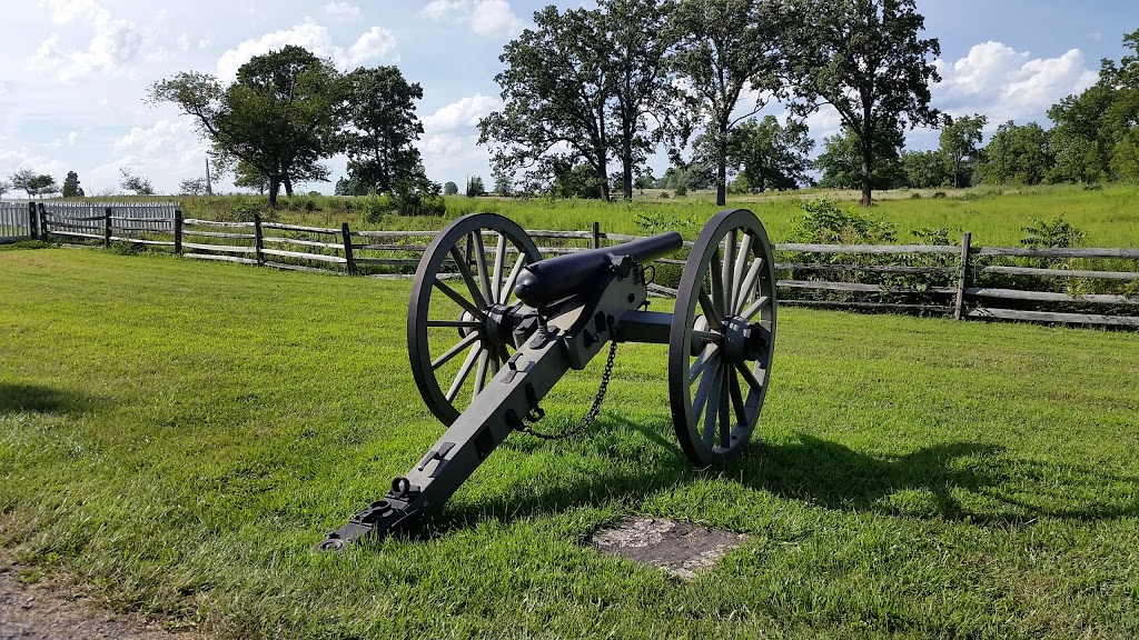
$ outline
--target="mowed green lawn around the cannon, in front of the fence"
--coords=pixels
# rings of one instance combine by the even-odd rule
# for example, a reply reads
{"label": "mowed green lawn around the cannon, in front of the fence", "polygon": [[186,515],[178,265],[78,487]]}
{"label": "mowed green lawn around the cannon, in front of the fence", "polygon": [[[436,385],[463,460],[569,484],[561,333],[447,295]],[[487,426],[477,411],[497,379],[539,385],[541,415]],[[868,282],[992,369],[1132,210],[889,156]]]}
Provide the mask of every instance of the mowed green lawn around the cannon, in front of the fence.
{"label": "mowed green lawn around the cannon, in front of the fence", "polygon": [[[314,553],[442,433],[409,288],[0,253],[2,553],[224,638],[1139,635],[1128,333],[782,310],[756,438],[707,470],[665,347],[624,345],[587,435],[511,436],[426,531]],[[628,514],[749,538],[691,582],[581,545]]]}

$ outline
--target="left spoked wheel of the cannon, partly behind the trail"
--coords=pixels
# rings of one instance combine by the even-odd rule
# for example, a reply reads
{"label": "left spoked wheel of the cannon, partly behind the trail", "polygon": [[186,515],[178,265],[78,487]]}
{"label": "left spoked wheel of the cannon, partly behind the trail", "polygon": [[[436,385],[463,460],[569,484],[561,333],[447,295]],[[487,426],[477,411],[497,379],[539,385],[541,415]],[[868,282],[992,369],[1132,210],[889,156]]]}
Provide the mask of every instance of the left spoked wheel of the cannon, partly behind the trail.
{"label": "left spoked wheel of the cannon, partly behind the trail", "polygon": [[416,269],[408,307],[408,353],[427,408],[451,425],[510,358],[494,323],[517,301],[522,266],[541,260],[515,222],[493,213],[460,218],[441,231]]}

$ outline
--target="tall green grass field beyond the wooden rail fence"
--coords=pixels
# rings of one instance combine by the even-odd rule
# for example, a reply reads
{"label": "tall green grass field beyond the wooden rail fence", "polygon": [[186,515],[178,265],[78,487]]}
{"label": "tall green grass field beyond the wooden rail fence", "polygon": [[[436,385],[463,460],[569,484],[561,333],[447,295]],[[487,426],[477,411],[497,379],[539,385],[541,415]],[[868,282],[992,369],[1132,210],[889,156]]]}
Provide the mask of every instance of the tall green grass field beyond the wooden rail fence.
{"label": "tall green grass field beyond the wooden rail fence", "polygon": [[[899,240],[912,240],[910,231],[918,227],[956,229],[950,237],[959,238],[960,231],[973,232],[974,245],[1016,246],[1024,237],[1022,228],[1029,225],[1032,216],[1050,220],[1064,215],[1070,222],[1087,233],[1087,246],[1139,247],[1139,184],[1106,186],[1099,190],[1085,190],[1081,186],[948,189],[945,198],[933,198],[933,190],[879,191],[878,203],[869,210],[875,215],[894,222],[899,229]],[[632,204],[601,203],[597,200],[530,200],[499,198],[448,198],[448,218],[478,211],[503,213],[527,229],[587,230],[593,221],[601,223],[605,231],[617,233],[644,233],[636,223],[637,213],[664,215],[669,219],[686,220],[711,218],[719,207],[715,198],[707,192],[693,196],[661,199],[662,191],[637,194]],[[921,196],[913,199],[913,194]],[[757,196],[734,196],[729,206],[752,208],[760,215],[775,241],[785,241],[792,230],[793,219],[800,214],[795,205],[797,198],[830,198],[843,207],[858,207],[854,191],[806,189],[794,192],[763,194]],[[181,198],[187,215],[211,218],[227,215],[235,203],[252,197],[231,196],[216,198]],[[169,198],[166,198],[169,199]],[[255,199],[255,198],[253,198]],[[264,198],[261,198],[263,202]],[[350,222],[353,229],[437,229],[444,221],[437,218],[386,216],[378,224],[366,223],[358,211],[343,211],[339,198],[311,198],[318,211],[305,213],[303,204],[310,198],[294,198],[290,211],[286,203],[278,212],[284,220],[300,223],[335,225]],[[695,236],[699,225],[683,229]]]}

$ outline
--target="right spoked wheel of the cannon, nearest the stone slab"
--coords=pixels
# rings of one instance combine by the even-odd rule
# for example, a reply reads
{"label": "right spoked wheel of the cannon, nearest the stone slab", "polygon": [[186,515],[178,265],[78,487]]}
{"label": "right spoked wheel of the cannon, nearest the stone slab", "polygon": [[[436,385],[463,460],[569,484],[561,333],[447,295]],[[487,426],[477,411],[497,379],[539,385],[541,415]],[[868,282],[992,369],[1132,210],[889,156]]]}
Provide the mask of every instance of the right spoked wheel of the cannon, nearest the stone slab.
{"label": "right spoked wheel of the cannon, nearest the stone slab", "polygon": [[677,437],[706,467],[738,453],[763,408],[776,335],[776,269],[763,224],[718,213],[685,263],[669,335]]}

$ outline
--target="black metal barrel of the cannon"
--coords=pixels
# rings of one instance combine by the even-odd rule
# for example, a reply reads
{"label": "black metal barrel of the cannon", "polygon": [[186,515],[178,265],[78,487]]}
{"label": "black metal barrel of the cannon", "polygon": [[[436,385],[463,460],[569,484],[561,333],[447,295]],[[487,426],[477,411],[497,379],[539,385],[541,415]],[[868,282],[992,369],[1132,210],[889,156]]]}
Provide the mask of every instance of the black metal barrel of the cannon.
{"label": "black metal barrel of the cannon", "polygon": [[618,256],[628,255],[646,263],[682,246],[680,233],[671,231],[623,245],[550,257],[526,265],[518,274],[514,293],[530,306],[547,306],[589,290]]}

